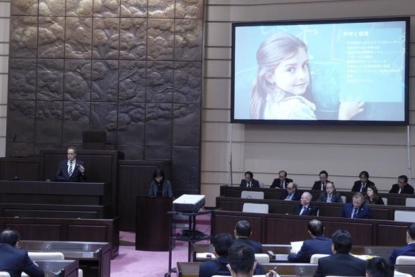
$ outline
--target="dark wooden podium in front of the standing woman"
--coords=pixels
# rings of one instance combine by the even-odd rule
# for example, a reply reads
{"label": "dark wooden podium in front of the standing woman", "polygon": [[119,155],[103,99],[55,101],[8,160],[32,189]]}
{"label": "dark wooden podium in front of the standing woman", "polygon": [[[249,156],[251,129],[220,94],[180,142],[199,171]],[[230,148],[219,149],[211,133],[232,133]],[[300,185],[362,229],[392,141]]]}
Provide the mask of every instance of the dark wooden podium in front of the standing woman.
{"label": "dark wooden podium in front of the standing woman", "polygon": [[172,197],[137,197],[136,250],[168,251]]}

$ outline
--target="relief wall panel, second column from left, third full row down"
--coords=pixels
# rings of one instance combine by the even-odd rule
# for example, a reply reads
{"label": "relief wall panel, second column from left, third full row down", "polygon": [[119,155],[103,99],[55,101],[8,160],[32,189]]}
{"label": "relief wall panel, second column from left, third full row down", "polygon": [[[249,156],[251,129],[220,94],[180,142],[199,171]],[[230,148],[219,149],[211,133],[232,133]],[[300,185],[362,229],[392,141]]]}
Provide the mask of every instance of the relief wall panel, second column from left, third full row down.
{"label": "relief wall panel, second column from left, third full row down", "polygon": [[62,101],[36,101],[36,143],[62,141]]}

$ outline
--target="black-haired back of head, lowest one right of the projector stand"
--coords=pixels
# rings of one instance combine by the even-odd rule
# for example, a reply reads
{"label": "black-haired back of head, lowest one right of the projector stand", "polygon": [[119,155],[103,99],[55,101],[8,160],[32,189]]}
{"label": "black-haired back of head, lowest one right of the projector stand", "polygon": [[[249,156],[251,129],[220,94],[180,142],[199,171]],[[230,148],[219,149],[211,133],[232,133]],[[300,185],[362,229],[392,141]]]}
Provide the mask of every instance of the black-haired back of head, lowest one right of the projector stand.
{"label": "black-haired back of head, lowest one right of the projector stand", "polygon": [[228,249],[232,276],[252,276],[254,274],[254,249],[244,243],[234,243]]}

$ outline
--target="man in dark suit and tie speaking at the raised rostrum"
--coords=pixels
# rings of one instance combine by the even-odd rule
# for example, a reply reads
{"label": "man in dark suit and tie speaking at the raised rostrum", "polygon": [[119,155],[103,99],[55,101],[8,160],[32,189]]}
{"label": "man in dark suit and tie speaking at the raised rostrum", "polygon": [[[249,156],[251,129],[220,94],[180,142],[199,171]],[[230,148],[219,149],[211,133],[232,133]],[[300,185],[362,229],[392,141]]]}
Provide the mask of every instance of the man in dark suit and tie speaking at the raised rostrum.
{"label": "man in dark suit and tie speaking at the raised rostrum", "polygon": [[55,173],[55,181],[87,181],[85,163],[76,159],[76,148],[71,146],[67,150],[68,159],[60,161]]}

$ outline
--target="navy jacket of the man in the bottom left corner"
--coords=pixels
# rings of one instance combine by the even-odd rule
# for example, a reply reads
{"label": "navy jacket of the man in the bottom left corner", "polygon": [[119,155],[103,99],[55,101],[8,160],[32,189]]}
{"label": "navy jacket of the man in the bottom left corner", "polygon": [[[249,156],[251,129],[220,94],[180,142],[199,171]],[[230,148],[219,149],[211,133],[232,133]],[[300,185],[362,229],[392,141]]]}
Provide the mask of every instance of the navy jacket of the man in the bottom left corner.
{"label": "navy jacket of the man in the bottom left corner", "polygon": [[28,256],[28,251],[9,244],[0,244],[0,271],[7,271],[10,277],[20,277],[23,271],[30,277],[43,277],[44,273]]}

